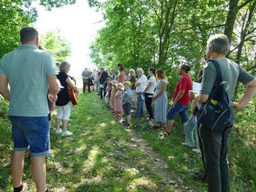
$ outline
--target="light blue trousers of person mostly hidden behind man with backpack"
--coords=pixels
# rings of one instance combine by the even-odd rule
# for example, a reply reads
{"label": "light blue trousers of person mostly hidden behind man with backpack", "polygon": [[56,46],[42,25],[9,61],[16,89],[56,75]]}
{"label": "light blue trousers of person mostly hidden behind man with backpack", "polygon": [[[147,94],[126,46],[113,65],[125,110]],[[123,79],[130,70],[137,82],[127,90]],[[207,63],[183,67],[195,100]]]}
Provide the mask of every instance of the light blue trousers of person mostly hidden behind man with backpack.
{"label": "light blue trousers of person mostly hidden behind man with backpack", "polygon": [[[195,140],[196,144],[194,142],[194,131],[195,131]],[[191,115],[188,119],[186,125],[185,125],[185,138],[187,141],[188,147],[195,147],[198,148],[198,134],[197,134],[197,123],[196,123],[196,117],[194,115]]]}

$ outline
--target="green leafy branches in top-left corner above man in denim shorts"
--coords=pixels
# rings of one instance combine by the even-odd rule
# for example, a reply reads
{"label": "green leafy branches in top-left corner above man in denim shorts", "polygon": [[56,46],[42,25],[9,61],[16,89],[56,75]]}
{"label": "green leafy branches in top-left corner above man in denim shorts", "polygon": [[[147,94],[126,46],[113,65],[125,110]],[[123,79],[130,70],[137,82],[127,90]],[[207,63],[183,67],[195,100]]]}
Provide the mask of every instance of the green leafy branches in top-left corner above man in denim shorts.
{"label": "green leafy branches in top-left corner above man in denim shorts", "polygon": [[[2,0],[0,1],[0,58],[20,45],[19,32],[23,27],[31,26],[38,16],[32,7],[34,0]],[[49,1],[41,0],[48,10],[52,7],[75,4],[75,0]],[[60,54],[67,54],[66,52]]]}

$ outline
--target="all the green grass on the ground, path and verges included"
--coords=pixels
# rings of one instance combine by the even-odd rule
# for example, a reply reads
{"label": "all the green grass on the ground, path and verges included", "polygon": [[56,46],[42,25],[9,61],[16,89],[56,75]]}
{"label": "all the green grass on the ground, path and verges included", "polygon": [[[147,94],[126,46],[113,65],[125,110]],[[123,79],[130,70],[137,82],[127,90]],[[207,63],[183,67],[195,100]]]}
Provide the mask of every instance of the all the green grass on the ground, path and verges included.
{"label": "all the green grass on the ground, path and verges included", "polygon": [[[180,144],[183,137],[178,119],[171,136],[160,138],[160,131],[152,130],[144,119],[132,119],[130,128],[125,129],[96,94],[81,94],[78,102],[72,106],[68,128],[74,135],[61,137],[50,130],[55,156],[47,160],[50,191],[206,191],[205,183],[192,178],[193,172],[202,168],[201,157]],[[232,191],[255,189],[253,118],[237,114],[239,123],[234,127],[228,154]],[[54,122],[52,125],[55,127]],[[0,131],[0,191],[12,191],[13,143],[6,116],[0,118]],[[140,139],[147,141],[147,146]],[[30,167],[26,157],[23,180],[29,183],[28,191],[34,191]]]}

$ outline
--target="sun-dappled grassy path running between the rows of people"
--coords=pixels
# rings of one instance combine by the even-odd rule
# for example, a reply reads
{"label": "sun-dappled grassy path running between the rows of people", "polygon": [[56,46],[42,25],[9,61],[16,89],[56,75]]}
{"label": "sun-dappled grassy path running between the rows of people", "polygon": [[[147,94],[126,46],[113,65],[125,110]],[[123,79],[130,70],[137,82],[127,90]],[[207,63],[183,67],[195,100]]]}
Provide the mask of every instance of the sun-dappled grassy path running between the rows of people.
{"label": "sun-dappled grassy path running between the rows of people", "polygon": [[[115,121],[95,94],[81,94],[69,121],[73,137],[51,135],[52,191],[184,191],[142,135]],[[179,182],[178,182],[179,180]]]}

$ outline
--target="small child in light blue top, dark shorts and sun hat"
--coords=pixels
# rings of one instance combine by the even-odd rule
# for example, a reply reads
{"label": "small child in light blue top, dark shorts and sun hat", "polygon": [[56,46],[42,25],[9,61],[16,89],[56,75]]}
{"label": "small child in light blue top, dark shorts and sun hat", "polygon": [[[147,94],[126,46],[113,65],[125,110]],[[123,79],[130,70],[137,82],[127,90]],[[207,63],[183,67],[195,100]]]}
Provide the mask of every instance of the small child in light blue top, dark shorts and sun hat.
{"label": "small child in light blue top, dark shorts and sun hat", "polygon": [[123,83],[125,91],[123,93],[122,105],[124,114],[127,115],[127,122],[123,121],[124,126],[129,126],[131,124],[131,108],[133,100],[133,92],[131,90],[132,83],[130,81],[125,81]]}

